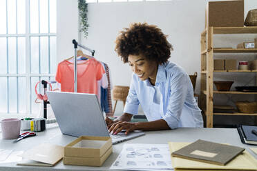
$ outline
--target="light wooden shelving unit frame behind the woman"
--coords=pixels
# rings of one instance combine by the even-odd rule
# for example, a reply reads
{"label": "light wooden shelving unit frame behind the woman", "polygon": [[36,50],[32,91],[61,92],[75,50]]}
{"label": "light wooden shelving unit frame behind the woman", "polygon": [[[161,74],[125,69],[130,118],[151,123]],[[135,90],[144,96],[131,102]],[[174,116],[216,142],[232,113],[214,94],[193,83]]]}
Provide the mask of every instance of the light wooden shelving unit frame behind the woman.
{"label": "light wooden shelving unit frame behind the woman", "polygon": [[257,72],[257,70],[213,70],[214,53],[257,53],[257,48],[213,48],[213,34],[257,34],[257,27],[208,27],[201,33],[200,108],[204,111],[204,114],[206,115],[207,128],[213,128],[213,115],[257,116],[257,113],[213,113],[213,94],[257,94],[257,92],[213,91],[213,73]]}

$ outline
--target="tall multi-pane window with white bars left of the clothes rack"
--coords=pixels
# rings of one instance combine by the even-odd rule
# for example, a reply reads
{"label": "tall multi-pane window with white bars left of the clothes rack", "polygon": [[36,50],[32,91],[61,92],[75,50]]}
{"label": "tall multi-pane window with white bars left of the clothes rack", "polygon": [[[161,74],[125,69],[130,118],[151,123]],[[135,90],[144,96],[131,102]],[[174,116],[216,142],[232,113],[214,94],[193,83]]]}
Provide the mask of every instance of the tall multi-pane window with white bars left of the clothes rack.
{"label": "tall multi-pane window with white bars left of the clothes rack", "polygon": [[56,4],[0,0],[0,113],[39,112],[35,84],[55,79]]}

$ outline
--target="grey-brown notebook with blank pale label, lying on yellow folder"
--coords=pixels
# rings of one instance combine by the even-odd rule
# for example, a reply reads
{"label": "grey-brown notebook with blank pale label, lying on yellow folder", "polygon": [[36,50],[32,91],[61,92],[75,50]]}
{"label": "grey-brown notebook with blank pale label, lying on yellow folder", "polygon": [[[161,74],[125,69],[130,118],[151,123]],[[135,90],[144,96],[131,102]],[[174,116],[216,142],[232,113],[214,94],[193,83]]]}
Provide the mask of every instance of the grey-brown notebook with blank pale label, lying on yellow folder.
{"label": "grey-brown notebook with blank pale label, lying on yellow folder", "polygon": [[213,143],[199,139],[198,141],[173,152],[171,155],[173,157],[180,157],[183,159],[226,165],[244,150],[245,148],[233,145]]}

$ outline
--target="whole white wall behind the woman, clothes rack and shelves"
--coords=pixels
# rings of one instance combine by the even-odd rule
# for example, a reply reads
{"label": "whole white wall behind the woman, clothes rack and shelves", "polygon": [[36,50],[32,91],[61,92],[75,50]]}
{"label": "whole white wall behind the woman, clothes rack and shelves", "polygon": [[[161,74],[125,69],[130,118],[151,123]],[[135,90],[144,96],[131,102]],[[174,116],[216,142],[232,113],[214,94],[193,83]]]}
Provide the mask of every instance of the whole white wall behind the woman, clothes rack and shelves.
{"label": "whole white wall behind the woman, clothes rack and shelves", "polygon": [[[58,60],[73,55],[70,41],[76,38],[75,19],[77,2],[59,0],[60,13],[57,28]],[[198,72],[196,92],[200,92],[200,33],[204,30],[204,10],[207,1],[173,0],[117,3],[89,3],[88,5],[88,39],[81,34],[81,43],[96,51],[95,57],[104,61],[111,68],[113,85],[128,86],[131,70],[114,51],[115,38],[122,28],[133,22],[147,22],[159,26],[164,34],[169,35],[173,45],[171,61],[182,66],[188,74]],[[255,0],[245,0],[245,17],[247,11],[257,8]],[[73,14],[72,12],[73,11]],[[70,17],[72,15],[73,17]],[[235,38],[238,41],[238,38]],[[235,39],[222,39],[214,44],[227,46]],[[122,103],[118,103],[117,113],[122,112]],[[116,113],[116,112],[115,112]]]}

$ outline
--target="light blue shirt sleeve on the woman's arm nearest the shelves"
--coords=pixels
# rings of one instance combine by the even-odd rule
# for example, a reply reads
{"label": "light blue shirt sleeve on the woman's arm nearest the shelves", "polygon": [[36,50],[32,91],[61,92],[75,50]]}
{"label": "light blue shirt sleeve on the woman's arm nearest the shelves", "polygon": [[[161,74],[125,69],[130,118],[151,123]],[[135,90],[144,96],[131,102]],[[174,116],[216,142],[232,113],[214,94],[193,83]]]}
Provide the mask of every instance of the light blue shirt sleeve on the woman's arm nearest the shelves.
{"label": "light blue shirt sleeve on the woman's arm nearest the shelves", "polygon": [[171,79],[169,101],[164,121],[171,129],[178,128],[184,101],[187,97],[187,74],[180,73]]}

